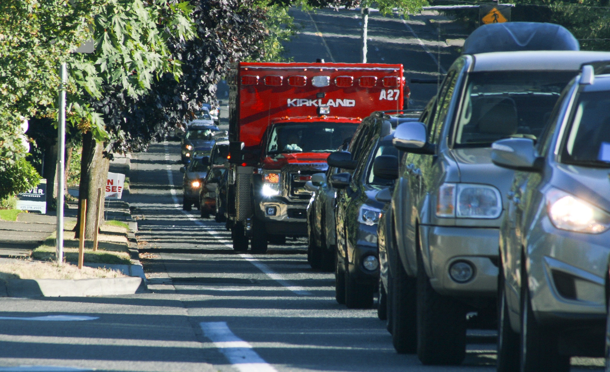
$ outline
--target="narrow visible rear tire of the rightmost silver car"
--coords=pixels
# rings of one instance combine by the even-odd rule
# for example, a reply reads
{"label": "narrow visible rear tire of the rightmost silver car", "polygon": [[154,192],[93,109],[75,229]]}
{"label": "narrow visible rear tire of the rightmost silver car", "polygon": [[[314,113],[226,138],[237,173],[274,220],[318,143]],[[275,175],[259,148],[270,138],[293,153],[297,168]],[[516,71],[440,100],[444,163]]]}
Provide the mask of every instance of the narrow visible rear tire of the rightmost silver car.
{"label": "narrow visible rear tire of the rightmost silver car", "polygon": [[500,263],[498,275],[498,353],[497,372],[519,372],[519,334],[511,328],[506,303],[506,281],[503,266]]}

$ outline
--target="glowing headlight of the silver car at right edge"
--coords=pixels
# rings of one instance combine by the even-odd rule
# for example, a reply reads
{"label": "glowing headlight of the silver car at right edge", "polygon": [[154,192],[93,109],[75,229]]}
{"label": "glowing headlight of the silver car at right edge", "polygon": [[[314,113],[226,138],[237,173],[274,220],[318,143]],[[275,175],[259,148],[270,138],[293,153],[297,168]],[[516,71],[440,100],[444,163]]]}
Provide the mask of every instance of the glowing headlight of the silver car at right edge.
{"label": "glowing headlight of the silver car at right edge", "polygon": [[567,192],[550,189],[547,198],[548,217],[561,230],[599,234],[610,227],[610,214]]}

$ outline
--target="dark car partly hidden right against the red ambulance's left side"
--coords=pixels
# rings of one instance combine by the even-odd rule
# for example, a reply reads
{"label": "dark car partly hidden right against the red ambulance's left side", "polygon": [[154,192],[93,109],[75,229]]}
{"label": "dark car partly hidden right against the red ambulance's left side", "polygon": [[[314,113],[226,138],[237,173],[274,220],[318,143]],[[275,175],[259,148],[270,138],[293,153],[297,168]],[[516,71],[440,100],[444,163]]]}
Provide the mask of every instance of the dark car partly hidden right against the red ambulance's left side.
{"label": "dark car partly hidden right against the red ambulance's left side", "polygon": [[207,169],[206,177],[201,182],[199,191],[199,210],[201,218],[210,218],[213,214],[215,219],[220,219],[216,209],[216,192],[218,191],[218,183],[223,178],[226,168],[224,167],[229,155],[229,141],[216,142],[212,147],[212,155],[210,155],[210,165]]}

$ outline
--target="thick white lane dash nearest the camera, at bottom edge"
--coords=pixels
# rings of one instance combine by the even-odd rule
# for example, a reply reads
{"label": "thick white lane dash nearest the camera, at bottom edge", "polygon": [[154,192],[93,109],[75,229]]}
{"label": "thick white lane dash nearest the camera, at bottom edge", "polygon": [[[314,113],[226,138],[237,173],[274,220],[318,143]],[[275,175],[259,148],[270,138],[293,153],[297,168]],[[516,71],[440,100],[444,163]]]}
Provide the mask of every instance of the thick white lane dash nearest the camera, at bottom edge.
{"label": "thick white lane dash nearest the camera, at bottom edge", "polygon": [[229,363],[241,372],[277,372],[249,343],[231,332],[225,321],[204,321],[199,324],[203,334],[212,340]]}

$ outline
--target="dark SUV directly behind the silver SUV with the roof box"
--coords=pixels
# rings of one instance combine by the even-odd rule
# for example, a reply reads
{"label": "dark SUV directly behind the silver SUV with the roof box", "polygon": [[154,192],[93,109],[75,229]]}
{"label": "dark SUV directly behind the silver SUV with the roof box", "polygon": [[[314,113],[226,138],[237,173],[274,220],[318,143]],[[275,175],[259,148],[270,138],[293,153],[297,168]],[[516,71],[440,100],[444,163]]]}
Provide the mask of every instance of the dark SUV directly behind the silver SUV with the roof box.
{"label": "dark SUV directly behind the silver SUV with the roof box", "polygon": [[334,152],[328,158],[329,166],[351,170],[330,178],[337,189],[336,300],[350,308],[371,307],[378,287],[377,223],[382,203],[375,195],[390,183],[375,177],[373,163],[381,155],[398,155],[388,119],[382,112],[371,114],[354,133],[353,153]]}

